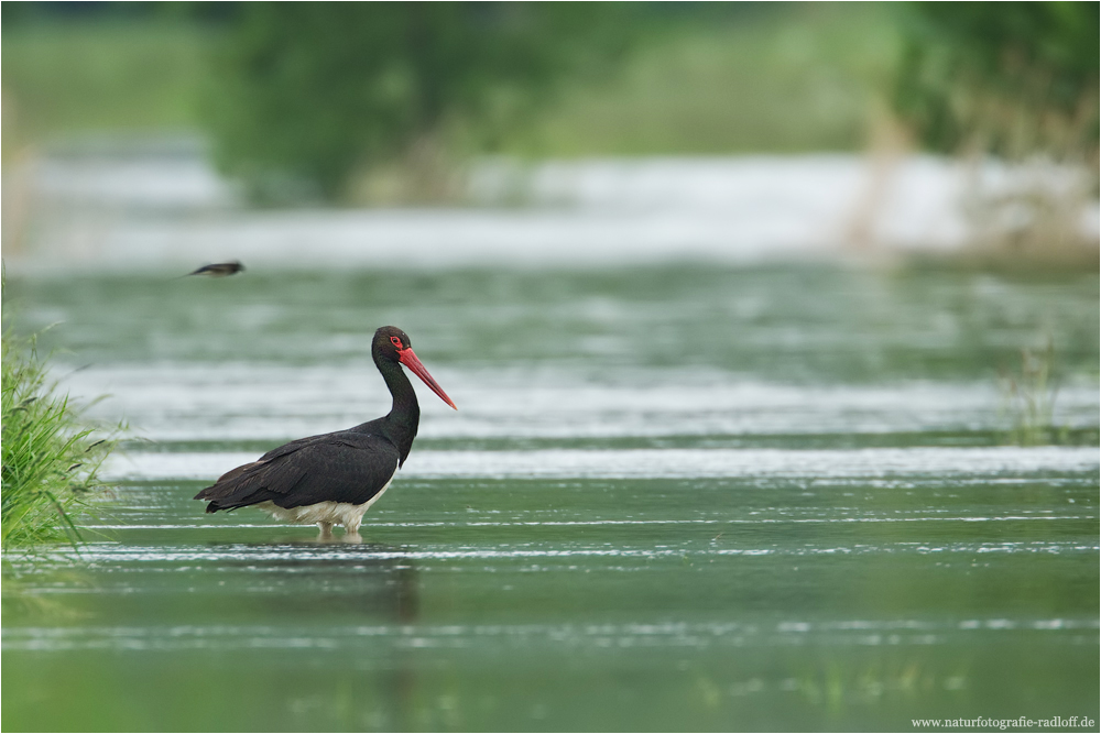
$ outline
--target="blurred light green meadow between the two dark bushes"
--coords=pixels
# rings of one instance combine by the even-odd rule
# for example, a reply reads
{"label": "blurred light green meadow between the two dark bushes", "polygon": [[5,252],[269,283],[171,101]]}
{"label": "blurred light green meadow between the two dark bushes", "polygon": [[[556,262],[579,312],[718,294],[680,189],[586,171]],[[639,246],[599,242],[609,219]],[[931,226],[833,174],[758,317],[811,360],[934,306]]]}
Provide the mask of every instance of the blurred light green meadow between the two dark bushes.
{"label": "blurred light green meadow between the two dark bushes", "polygon": [[614,74],[567,86],[506,136],[504,151],[538,158],[866,145],[898,54],[892,7],[782,2],[711,12],[686,11],[645,33]]}

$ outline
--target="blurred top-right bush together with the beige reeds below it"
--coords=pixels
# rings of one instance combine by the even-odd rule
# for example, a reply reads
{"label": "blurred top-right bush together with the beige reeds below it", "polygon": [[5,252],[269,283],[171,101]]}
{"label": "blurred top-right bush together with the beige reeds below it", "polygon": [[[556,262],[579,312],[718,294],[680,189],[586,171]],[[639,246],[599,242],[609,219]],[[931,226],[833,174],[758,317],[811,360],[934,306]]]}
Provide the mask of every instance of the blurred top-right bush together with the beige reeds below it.
{"label": "blurred top-right bush together with the beige reeds below it", "polygon": [[[971,166],[967,263],[1097,267],[1095,2],[911,3],[893,106],[927,150]],[[983,180],[983,156],[1018,174]]]}

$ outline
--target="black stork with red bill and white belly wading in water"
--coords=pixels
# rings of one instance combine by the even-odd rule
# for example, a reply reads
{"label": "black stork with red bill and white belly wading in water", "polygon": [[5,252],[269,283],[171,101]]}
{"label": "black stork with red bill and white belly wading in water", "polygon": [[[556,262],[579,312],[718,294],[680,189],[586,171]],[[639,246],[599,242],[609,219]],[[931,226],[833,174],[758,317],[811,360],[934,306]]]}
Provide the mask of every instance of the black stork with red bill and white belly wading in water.
{"label": "black stork with red bill and white belly wading in water", "polygon": [[195,499],[209,501],[208,513],[254,505],[283,521],[316,523],[323,536],[334,525],[357,536],[363,513],[405,463],[421,420],[416,393],[401,365],[458,409],[413,353],[408,335],[397,327],[374,332],[371,357],[394,399],[389,414],[347,430],[284,443],[226,472]]}

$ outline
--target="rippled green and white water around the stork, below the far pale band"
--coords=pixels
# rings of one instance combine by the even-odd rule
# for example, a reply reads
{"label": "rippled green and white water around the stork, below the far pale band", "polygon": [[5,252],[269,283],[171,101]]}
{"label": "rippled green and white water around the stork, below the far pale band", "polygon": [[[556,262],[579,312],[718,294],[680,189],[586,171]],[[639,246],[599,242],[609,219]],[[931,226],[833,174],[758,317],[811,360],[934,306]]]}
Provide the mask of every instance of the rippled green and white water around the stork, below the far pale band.
{"label": "rippled green and white water around the stork, below the far pale band", "polygon": [[[9,275],[130,423],[87,546],[21,567],[10,731],[1098,719],[1095,273],[172,275]],[[219,473],[389,409],[386,324],[459,410],[417,385],[363,541],[205,515]]]}

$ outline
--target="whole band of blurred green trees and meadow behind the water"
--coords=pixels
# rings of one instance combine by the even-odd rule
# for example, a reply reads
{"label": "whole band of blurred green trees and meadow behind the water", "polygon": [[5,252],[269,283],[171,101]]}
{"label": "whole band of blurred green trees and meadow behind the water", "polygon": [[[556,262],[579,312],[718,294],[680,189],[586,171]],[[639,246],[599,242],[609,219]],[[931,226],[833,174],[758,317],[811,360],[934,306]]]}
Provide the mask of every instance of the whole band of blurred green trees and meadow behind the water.
{"label": "whole band of blurred green trees and meadow behind the water", "polygon": [[447,200],[447,172],[483,153],[859,151],[884,119],[934,151],[1097,168],[1095,2],[2,13],[6,157],[90,131],[198,130],[268,200]]}

